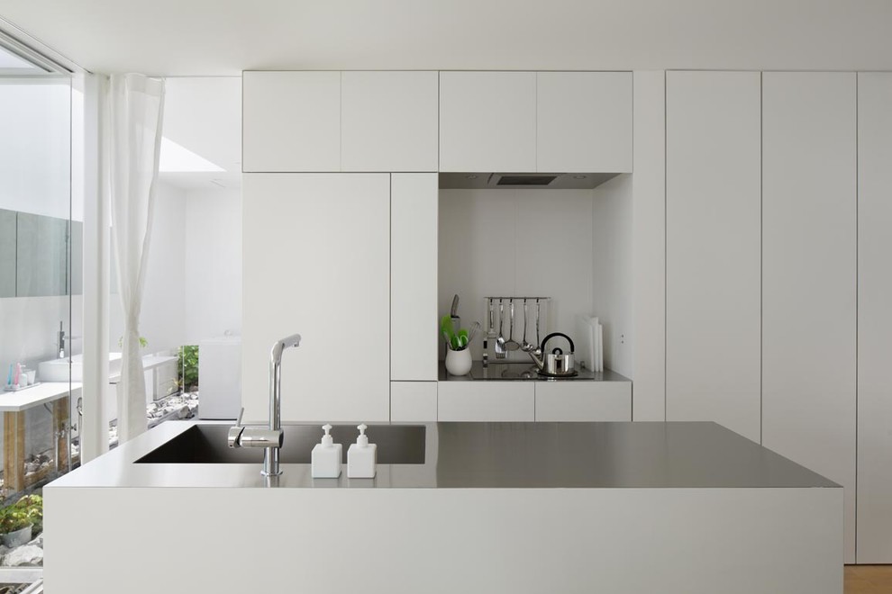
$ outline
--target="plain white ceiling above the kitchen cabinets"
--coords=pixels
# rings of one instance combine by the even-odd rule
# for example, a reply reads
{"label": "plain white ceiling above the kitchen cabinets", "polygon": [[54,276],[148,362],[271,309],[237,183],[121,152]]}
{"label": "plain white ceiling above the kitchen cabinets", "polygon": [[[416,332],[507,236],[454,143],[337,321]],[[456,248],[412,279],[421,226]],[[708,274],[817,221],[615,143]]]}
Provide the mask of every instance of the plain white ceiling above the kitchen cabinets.
{"label": "plain white ceiling above the kitchen cabinets", "polygon": [[888,0],[0,0],[96,72],[892,69]]}

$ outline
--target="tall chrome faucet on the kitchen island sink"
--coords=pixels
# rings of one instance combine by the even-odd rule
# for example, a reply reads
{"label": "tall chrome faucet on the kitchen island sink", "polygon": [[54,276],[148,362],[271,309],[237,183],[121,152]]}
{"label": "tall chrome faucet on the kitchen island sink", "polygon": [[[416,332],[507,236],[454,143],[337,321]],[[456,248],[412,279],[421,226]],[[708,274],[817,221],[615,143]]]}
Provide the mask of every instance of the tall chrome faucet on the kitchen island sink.
{"label": "tall chrome faucet on the kitchen island sink", "polygon": [[282,448],[282,351],[288,347],[299,347],[300,335],[293,334],[282,338],[273,345],[269,353],[269,428],[243,427],[241,415],[235,427],[229,430],[230,447],[262,447],[264,476],[278,476],[278,454]]}

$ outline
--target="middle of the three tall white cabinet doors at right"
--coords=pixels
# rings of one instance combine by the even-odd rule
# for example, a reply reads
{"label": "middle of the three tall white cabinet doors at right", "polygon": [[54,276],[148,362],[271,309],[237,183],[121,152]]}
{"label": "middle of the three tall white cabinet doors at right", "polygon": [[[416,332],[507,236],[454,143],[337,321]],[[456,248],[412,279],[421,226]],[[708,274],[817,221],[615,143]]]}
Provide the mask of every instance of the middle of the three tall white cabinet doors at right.
{"label": "middle of the three tall white cabinet doors at right", "polygon": [[845,489],[855,551],[856,81],[762,78],[762,444]]}

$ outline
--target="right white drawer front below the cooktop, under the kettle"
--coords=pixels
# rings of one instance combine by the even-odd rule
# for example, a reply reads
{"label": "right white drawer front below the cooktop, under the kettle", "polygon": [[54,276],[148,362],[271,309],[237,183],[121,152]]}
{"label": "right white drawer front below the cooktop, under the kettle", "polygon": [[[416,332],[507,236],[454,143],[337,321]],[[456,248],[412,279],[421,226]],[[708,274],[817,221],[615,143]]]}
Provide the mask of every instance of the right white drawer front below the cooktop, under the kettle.
{"label": "right white drawer front below the cooktop, under the kettle", "polygon": [[535,382],[537,421],[631,421],[631,382]]}

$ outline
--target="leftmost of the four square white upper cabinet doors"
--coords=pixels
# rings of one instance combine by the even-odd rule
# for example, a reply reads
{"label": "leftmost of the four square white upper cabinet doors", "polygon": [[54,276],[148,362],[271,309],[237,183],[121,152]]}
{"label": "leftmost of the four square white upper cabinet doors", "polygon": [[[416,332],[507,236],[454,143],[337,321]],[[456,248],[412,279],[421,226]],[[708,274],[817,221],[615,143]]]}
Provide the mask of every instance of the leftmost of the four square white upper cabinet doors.
{"label": "leftmost of the four square white upper cabinet doors", "polygon": [[245,72],[241,170],[341,169],[341,73]]}

